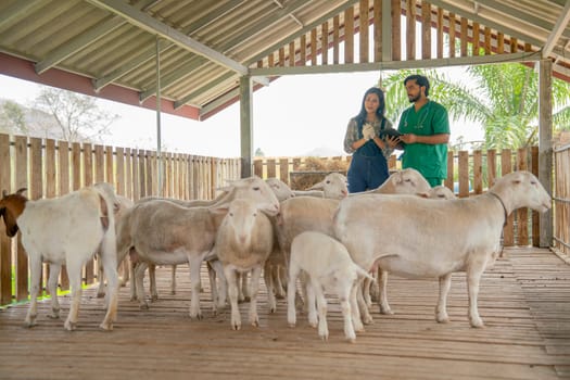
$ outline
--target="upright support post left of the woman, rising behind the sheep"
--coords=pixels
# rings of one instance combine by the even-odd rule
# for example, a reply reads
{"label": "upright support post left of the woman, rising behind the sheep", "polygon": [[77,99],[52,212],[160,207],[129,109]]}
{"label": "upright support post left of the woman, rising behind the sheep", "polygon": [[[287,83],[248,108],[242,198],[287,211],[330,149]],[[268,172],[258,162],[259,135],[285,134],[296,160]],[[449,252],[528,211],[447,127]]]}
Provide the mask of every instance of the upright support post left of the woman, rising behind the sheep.
{"label": "upright support post left of the woman, rising behind the sheep", "polygon": [[253,164],[253,86],[250,76],[240,78],[240,136],[241,136],[241,178],[252,176]]}

